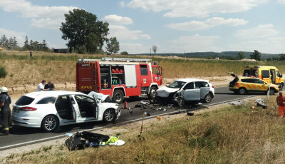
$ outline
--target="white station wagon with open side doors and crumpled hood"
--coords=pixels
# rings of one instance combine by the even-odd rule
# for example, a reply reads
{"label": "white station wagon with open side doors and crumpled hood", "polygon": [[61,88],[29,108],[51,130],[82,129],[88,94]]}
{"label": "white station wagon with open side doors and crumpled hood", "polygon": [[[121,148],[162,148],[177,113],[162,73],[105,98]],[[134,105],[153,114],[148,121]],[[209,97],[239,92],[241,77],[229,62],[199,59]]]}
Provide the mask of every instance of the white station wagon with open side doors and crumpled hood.
{"label": "white station wagon with open side doors and crumpled hood", "polygon": [[47,132],[56,130],[58,125],[117,120],[118,104],[103,103],[102,98],[108,96],[71,91],[27,93],[13,105],[11,120],[14,125],[41,127]]}

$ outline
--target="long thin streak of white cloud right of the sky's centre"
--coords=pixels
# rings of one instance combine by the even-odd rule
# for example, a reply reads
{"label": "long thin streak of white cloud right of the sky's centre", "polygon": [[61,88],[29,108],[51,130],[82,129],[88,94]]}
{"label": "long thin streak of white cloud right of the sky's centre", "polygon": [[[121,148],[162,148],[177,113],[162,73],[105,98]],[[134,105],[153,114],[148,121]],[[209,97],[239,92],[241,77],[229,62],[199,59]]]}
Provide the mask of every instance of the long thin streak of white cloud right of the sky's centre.
{"label": "long thin streak of white cloud right of the sky's centre", "polygon": [[177,29],[181,31],[196,31],[202,29],[210,29],[215,26],[240,26],[247,24],[248,21],[244,19],[224,19],[220,17],[213,17],[206,21],[188,21],[180,24],[167,24],[167,27],[171,29]]}

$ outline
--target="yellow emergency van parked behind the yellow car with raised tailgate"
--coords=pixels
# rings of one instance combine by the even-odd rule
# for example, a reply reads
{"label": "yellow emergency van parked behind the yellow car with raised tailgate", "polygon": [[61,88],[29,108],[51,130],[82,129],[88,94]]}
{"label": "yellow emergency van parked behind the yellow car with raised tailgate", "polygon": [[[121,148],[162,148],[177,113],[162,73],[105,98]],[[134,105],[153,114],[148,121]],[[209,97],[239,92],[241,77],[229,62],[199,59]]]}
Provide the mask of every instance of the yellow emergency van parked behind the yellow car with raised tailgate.
{"label": "yellow emergency van parked behind the yellow car with raised tailgate", "polygon": [[274,83],[279,88],[283,88],[284,79],[275,66],[245,66],[244,76],[260,78],[266,83]]}

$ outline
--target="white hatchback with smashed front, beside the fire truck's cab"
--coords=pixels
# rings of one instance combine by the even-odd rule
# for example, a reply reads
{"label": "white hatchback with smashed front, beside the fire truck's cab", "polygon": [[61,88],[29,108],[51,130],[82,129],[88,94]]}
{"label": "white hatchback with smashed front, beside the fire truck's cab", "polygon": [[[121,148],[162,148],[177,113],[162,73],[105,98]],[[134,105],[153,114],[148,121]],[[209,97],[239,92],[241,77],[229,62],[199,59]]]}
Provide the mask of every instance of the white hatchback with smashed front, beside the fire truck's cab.
{"label": "white hatchback with smashed front, beside the fire truck's cab", "polygon": [[181,78],[157,89],[157,97],[177,101],[182,105],[185,101],[203,101],[210,103],[214,98],[214,86],[208,80]]}

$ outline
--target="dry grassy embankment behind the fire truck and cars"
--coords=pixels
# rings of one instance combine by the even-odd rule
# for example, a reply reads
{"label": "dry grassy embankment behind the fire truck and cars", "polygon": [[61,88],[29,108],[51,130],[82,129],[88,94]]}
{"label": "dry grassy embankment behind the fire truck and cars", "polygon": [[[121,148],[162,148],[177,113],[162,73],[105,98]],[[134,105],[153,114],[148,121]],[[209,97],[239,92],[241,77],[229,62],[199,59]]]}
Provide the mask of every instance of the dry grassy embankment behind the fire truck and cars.
{"label": "dry grassy embankment behind the fire truck and cars", "polygon": [[[76,61],[78,58],[101,58],[103,55],[79,55],[76,53],[45,53],[34,52],[33,58],[28,56],[28,51],[3,51],[0,52],[0,66],[4,66],[8,75],[0,78],[2,86],[17,86],[37,84],[41,80],[53,83],[71,82],[76,79]],[[107,56],[107,57],[135,57],[150,58],[150,56]],[[161,58],[151,57],[163,68],[164,78],[189,78],[228,76],[227,71],[242,74],[244,66],[267,65],[277,66],[281,73],[285,73],[285,65],[281,62],[249,62],[225,61],[192,58]]]}

